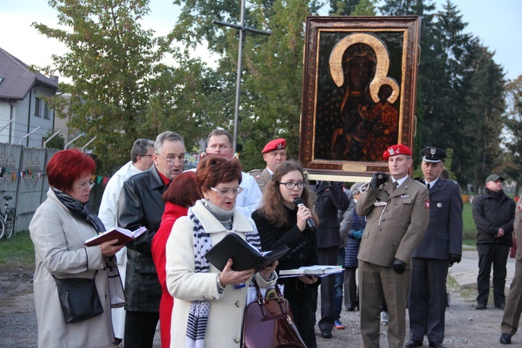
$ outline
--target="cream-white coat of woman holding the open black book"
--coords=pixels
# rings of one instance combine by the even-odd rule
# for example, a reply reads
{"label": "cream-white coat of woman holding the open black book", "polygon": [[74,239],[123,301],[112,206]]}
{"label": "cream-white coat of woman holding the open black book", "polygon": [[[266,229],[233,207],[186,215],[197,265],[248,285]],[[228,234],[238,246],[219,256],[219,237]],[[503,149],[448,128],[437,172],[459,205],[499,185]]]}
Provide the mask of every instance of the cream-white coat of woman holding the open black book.
{"label": "cream-white coat of woman holding the open black book", "polygon": [[[230,232],[201,201],[196,202],[192,211],[205,232],[209,233],[212,245]],[[243,239],[245,239],[245,232],[253,230],[251,225],[253,221],[248,221],[237,210],[232,221],[234,223],[232,229]],[[168,237],[166,244],[166,258],[167,288],[168,292],[175,297],[172,312],[171,347],[185,347],[191,301],[207,299],[210,300],[210,310],[205,333],[205,347],[239,347],[246,306],[246,289],[251,282],[246,282],[246,287],[240,290],[235,290],[232,285],[228,285],[220,294],[217,287],[219,270],[216,267],[211,264],[209,273],[194,273],[193,222],[189,216],[182,216],[174,223],[171,236]],[[275,279],[267,283],[260,274],[255,276],[261,287],[276,283]]]}

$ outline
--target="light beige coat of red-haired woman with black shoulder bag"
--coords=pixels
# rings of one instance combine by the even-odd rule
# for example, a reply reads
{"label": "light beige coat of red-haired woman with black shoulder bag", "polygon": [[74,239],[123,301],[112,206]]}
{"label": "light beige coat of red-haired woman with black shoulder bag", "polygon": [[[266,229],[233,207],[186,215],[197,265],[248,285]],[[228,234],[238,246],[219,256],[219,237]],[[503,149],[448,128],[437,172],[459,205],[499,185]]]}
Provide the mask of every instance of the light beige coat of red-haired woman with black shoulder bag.
{"label": "light beige coat of red-haired woman with black shoulder bag", "polygon": [[[113,342],[111,303],[102,248],[84,246],[96,235],[83,219],[73,216],[49,189],[36,210],[29,232],[35,247],[34,301],[38,320],[38,347],[104,347]],[[65,324],[56,278],[93,278],[104,313],[83,322]]]}

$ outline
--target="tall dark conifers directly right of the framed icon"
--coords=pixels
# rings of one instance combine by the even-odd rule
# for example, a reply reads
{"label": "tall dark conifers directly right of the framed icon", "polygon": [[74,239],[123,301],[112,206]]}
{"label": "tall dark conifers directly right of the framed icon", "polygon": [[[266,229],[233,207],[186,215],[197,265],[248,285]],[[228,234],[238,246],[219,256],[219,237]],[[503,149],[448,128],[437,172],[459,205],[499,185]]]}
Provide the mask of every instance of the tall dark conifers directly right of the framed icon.
{"label": "tall dark conifers directly right of the framed icon", "polygon": [[466,33],[467,23],[451,1],[436,13],[423,0],[387,0],[380,9],[422,16],[416,148],[454,149],[457,181],[477,187],[502,161],[503,69]]}

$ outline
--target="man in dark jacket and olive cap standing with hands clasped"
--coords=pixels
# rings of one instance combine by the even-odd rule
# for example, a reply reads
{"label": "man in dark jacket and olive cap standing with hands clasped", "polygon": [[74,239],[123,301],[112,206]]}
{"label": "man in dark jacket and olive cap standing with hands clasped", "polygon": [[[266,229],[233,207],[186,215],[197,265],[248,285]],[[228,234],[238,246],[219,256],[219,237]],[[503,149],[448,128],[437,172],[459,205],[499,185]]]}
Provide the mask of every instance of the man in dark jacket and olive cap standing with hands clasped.
{"label": "man in dark jacket and olive cap standing with hands clasped", "polygon": [[493,264],[493,301],[496,308],[505,308],[506,263],[513,244],[515,202],[502,189],[503,177],[491,174],[484,193],[473,200],[473,221],[477,226],[477,306],[485,309],[489,297],[489,274]]}

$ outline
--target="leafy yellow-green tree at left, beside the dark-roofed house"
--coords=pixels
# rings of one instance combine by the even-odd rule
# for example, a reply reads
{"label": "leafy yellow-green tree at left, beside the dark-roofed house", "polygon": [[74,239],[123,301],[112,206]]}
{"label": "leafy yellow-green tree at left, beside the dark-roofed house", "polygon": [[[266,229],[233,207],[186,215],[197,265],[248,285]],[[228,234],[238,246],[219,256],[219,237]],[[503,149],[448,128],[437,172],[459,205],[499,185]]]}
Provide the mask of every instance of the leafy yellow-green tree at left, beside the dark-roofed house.
{"label": "leafy yellow-green tree at left, beside the dark-roofed house", "polygon": [[70,100],[54,97],[52,106],[65,117],[68,104],[70,126],[97,137],[90,146],[100,155],[102,170],[110,171],[127,160],[133,141],[146,133],[153,67],[172,38],[153,38],[152,30],[141,28],[148,0],[49,0],[49,6],[65,29],[33,26],[68,47],[68,53],[52,58],[71,81],[60,84]]}

